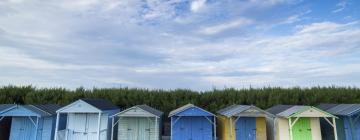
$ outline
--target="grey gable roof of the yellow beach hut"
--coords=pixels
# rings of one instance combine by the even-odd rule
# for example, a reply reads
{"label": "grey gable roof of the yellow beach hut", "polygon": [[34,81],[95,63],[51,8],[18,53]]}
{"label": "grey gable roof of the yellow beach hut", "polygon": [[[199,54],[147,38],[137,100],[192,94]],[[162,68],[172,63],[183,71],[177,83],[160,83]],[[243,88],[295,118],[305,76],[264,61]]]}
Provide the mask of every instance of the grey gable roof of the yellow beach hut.
{"label": "grey gable roof of the yellow beach hut", "polygon": [[273,114],[268,113],[268,112],[266,112],[256,106],[253,106],[253,105],[231,105],[229,107],[219,110],[217,113],[227,116],[227,117],[231,117],[231,116],[235,116],[239,113],[244,112],[244,113],[253,114],[253,115],[255,115],[254,117],[256,117],[256,115],[258,115],[258,112],[246,112],[247,110],[250,110],[250,109],[257,110],[258,112],[261,112],[267,116],[272,116],[272,117],[274,116]]}

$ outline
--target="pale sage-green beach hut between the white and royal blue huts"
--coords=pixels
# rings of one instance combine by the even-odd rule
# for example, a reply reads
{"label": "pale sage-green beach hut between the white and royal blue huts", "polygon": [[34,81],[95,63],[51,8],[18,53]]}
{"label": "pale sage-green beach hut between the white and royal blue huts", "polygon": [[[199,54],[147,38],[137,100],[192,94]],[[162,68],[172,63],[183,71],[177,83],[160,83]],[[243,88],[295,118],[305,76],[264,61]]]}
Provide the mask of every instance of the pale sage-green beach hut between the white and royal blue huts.
{"label": "pale sage-green beach hut between the white and royal blue huts", "polygon": [[[163,112],[147,105],[137,105],[112,116],[112,140],[160,140]],[[114,136],[115,126],[117,136]]]}

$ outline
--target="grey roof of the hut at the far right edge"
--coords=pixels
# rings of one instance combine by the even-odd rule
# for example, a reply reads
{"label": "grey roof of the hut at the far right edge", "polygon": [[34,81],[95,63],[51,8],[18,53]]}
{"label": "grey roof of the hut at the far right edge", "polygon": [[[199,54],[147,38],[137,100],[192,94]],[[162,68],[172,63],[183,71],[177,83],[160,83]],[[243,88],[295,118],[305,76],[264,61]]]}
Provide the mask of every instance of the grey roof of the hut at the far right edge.
{"label": "grey roof of the hut at the far right edge", "polygon": [[360,104],[320,104],[318,107],[339,116],[352,116],[360,113]]}

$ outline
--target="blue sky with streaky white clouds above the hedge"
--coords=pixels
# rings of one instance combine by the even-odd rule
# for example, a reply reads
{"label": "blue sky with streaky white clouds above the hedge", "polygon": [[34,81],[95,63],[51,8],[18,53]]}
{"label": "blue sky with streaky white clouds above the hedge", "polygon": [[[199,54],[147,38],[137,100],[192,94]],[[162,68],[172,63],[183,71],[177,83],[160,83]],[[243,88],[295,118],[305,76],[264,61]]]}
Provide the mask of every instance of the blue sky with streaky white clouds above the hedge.
{"label": "blue sky with streaky white clouds above the hedge", "polygon": [[1,0],[0,85],[360,86],[359,0]]}

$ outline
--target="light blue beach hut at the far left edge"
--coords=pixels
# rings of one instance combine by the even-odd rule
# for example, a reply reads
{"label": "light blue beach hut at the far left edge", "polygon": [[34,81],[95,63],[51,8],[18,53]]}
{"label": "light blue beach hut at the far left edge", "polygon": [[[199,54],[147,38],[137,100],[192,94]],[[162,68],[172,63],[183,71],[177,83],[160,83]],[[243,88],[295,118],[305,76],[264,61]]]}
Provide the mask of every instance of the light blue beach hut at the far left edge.
{"label": "light blue beach hut at the far left edge", "polygon": [[52,140],[58,105],[16,105],[0,107],[2,140]]}

